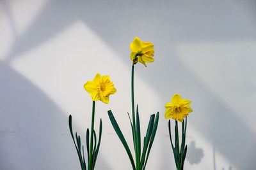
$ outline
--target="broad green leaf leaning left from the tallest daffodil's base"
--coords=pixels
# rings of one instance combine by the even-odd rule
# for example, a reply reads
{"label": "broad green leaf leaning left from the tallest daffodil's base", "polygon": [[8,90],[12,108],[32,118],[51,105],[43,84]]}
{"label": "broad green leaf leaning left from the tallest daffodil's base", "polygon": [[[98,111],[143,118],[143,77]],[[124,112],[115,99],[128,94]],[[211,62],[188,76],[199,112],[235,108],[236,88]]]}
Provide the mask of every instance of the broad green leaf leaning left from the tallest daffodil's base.
{"label": "broad green leaf leaning left from the tallest daffodil's base", "polygon": [[131,153],[131,150],[129,149],[129,146],[127,145],[127,142],[125,141],[125,138],[124,138],[124,135],[122,134],[122,131],[120,130],[116,120],[115,120],[115,117],[112,113],[111,110],[108,111],[108,116],[109,116],[109,119],[111,121],[111,124],[113,125],[113,128],[115,129],[116,131],[116,134],[118,136],[118,138],[120,139],[120,141],[122,142],[122,144],[124,145],[124,148],[128,154],[128,157],[131,161],[131,164],[132,164],[132,169],[136,169],[135,168],[135,165],[134,165],[134,160],[133,160],[133,157],[132,157],[132,153]]}

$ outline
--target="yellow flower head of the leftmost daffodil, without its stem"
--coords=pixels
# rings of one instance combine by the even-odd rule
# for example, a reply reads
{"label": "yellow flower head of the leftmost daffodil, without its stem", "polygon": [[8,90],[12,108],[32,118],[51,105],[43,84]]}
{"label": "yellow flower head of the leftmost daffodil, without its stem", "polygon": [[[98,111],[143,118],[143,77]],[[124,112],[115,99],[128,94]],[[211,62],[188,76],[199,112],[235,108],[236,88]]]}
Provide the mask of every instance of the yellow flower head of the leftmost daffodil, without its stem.
{"label": "yellow flower head of the leftmost daffodil, without its stem", "polygon": [[109,76],[100,76],[96,74],[93,81],[87,81],[84,84],[84,89],[91,94],[93,101],[102,101],[109,103],[109,95],[115,94],[116,89]]}

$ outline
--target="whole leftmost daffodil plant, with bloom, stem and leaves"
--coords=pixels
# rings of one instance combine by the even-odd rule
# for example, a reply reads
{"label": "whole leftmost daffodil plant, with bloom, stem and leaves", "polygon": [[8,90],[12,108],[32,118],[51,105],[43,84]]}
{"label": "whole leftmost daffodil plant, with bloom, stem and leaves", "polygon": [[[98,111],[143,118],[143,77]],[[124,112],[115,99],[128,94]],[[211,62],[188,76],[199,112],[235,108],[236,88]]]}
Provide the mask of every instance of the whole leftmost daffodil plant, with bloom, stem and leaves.
{"label": "whole leftmost daffodil plant, with bloom, stem and leaves", "polygon": [[99,73],[96,74],[93,81],[88,81],[84,84],[84,89],[91,94],[92,97],[92,124],[91,124],[91,132],[87,128],[86,131],[86,150],[87,150],[87,167],[86,167],[86,159],[84,157],[84,146],[81,145],[81,137],[77,135],[76,132],[76,140],[74,137],[73,129],[72,129],[72,116],[69,115],[68,125],[70,134],[74,141],[74,145],[76,147],[77,155],[79,158],[80,166],[82,170],[93,170],[95,168],[97,156],[100,148],[100,141],[102,135],[102,120],[100,118],[99,125],[99,141],[97,143],[96,132],[94,131],[94,117],[95,117],[95,101],[102,101],[103,103],[109,103],[109,95],[115,94],[116,89],[114,84],[110,81],[109,76],[100,76]]}

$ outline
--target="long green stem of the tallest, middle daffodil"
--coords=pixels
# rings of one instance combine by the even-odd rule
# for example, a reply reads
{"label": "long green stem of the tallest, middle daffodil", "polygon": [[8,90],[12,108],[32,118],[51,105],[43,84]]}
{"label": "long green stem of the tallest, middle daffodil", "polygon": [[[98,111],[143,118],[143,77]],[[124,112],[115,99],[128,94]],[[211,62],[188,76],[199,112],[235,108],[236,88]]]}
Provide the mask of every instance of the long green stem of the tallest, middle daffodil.
{"label": "long green stem of the tallest, middle daffodil", "polygon": [[[138,148],[137,148],[137,134],[136,134],[136,124],[135,124],[135,109],[134,109],[134,64],[132,64],[132,124],[133,124],[133,140],[134,140],[134,151],[136,157],[136,170],[139,170],[140,167],[140,156],[138,156]],[[140,138],[140,136],[138,136]]]}

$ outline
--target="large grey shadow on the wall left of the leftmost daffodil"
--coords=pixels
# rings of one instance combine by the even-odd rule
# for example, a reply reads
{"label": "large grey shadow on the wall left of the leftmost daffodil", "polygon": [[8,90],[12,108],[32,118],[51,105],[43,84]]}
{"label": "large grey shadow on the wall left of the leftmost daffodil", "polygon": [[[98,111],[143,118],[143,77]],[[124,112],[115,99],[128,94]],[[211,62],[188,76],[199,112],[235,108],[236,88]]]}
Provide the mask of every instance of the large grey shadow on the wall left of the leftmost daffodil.
{"label": "large grey shadow on the wall left of the leftmost daffodil", "polygon": [[66,114],[3,62],[0,79],[0,169],[79,169]]}

